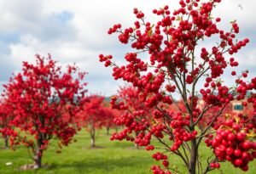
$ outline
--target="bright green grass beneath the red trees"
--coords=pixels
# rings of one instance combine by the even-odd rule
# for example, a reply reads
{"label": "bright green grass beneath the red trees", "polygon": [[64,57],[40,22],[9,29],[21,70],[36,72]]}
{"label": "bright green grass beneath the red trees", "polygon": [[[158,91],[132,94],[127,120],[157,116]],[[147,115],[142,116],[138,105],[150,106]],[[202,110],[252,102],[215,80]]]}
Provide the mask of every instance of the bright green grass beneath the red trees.
{"label": "bright green grass beneath the red trees", "polygon": [[[146,174],[150,166],[159,164],[151,158],[152,151],[148,152],[144,149],[134,149],[133,143],[128,142],[111,142],[106,132],[98,133],[96,145],[101,148],[90,149],[90,138],[86,132],[80,132],[76,136],[77,143],[73,143],[62,150],[61,154],[55,154],[55,146],[51,146],[45,153],[43,163],[47,163],[48,167],[39,170],[20,171],[19,167],[31,164],[27,150],[23,147],[15,151],[10,149],[0,149],[0,174]],[[0,146],[3,146],[3,139],[0,139]],[[206,158],[209,152],[206,147],[203,150],[202,159]],[[179,173],[186,173],[183,164],[172,155],[171,164],[178,167]],[[11,166],[6,163],[11,162]],[[235,169],[230,164],[221,164],[221,169],[210,172],[242,174],[239,169]],[[250,165],[247,174],[256,173],[256,162]]]}

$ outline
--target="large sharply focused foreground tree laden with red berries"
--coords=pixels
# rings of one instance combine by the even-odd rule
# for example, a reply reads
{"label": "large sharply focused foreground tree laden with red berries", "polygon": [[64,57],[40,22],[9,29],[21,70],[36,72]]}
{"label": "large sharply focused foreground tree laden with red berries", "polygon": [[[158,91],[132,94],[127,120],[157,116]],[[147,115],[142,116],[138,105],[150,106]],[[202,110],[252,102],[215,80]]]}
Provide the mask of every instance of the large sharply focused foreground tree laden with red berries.
{"label": "large sharply focused foreground tree laden with red berries", "polygon": [[[220,2],[180,0],[180,8],[172,13],[168,6],[154,9],[153,13],[160,17],[154,24],[145,19],[142,11],[134,8],[137,21],[133,26],[123,30],[117,24],[108,31],[108,34],[119,33],[119,42],[131,43],[135,51],[125,54],[125,65],[116,65],[112,55],[101,54],[100,61],[113,67],[114,79],[122,79],[137,87],[137,96],[143,98],[148,109],[157,110],[154,115],[159,120],[150,124],[148,119],[142,119],[143,113],[129,111],[125,116],[125,132],[119,132],[114,138],[130,140],[127,132],[140,130],[143,133],[137,139],[141,139],[141,145],[147,149],[154,149],[150,145],[151,137],[157,138],[164,152],[153,154],[153,158],[161,160],[163,168],[152,166],[154,173],[175,171],[169,165],[169,161],[172,162],[169,154],[179,156],[190,174],[212,171],[219,168],[222,161],[230,161],[247,171],[248,163],[256,158],[253,116],[247,121],[241,121],[241,118],[238,121],[233,115],[221,125],[218,123],[218,118],[224,118],[226,106],[235,99],[245,99],[245,106],[252,103],[254,111],[256,108],[256,94],[253,93],[256,78],[247,81],[248,72],[243,71],[241,75],[231,73],[234,87],[227,87],[221,80],[227,68],[238,65],[233,56],[249,40],[236,39],[239,32],[236,21],[231,23],[230,31],[218,28],[220,18],[212,16],[212,10]],[[203,41],[212,36],[218,38],[217,43],[205,48]],[[185,110],[171,112],[165,104],[175,104],[176,94],[182,98]],[[202,106],[199,99],[204,101]],[[119,109],[128,109],[119,103],[119,99],[114,99],[112,104]],[[218,109],[208,118],[208,111],[213,107]],[[202,120],[207,121],[207,125],[198,132],[197,126]],[[196,166],[201,164],[199,147],[205,139],[213,155],[204,169],[197,169]]]}

